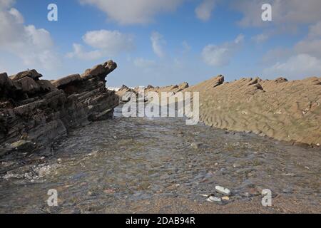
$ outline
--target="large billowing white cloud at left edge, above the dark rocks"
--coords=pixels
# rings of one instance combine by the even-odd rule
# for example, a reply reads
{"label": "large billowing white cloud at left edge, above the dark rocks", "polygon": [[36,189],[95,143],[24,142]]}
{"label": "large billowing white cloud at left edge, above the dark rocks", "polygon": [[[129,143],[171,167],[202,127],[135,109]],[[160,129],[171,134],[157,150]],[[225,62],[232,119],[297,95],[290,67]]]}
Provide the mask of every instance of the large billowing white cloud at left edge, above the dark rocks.
{"label": "large billowing white cloud at left edge, above the dark rocks", "polygon": [[[26,68],[55,68],[59,61],[49,31],[24,25],[24,17],[14,1],[0,0],[0,49],[18,57]],[[21,67],[19,59],[16,66]]]}

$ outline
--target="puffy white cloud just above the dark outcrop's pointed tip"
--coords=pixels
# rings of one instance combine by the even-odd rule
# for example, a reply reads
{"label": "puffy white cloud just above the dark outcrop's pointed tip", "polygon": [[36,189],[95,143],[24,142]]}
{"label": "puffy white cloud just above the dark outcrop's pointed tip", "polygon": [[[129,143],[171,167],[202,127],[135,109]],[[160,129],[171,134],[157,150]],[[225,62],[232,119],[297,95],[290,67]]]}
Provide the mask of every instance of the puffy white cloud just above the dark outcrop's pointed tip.
{"label": "puffy white cloud just above the dark outcrop's pointed tip", "polygon": [[68,58],[95,60],[102,57],[116,56],[120,53],[132,51],[135,48],[133,37],[119,31],[88,31],[83,36],[83,42],[94,51],[84,51],[81,44],[73,43],[73,52],[67,53]]}

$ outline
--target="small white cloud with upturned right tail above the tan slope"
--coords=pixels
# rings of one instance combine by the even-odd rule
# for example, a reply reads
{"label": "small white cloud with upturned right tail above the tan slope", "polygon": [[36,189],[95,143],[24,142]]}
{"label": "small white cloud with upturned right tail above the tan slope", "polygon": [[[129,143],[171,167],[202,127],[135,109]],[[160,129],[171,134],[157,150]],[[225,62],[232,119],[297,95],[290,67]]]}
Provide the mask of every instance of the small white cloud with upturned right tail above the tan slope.
{"label": "small white cloud with upturned right tail above the tan slope", "polygon": [[202,51],[203,61],[210,66],[226,66],[233,58],[235,51],[244,41],[243,34],[238,35],[233,42],[223,43],[220,46],[209,44]]}

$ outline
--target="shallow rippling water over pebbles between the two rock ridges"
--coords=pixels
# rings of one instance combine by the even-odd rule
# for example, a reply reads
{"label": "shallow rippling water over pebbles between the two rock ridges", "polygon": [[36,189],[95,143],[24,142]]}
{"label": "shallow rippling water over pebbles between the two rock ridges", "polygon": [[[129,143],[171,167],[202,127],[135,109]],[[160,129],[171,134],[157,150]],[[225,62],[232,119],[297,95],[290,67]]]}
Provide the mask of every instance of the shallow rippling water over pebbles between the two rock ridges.
{"label": "shallow rippling water over pebbles between the two rock ridges", "polygon": [[[116,112],[119,112],[116,110]],[[117,114],[117,113],[116,113]],[[23,158],[22,158],[23,157]],[[0,212],[131,212],[123,202],[205,202],[215,185],[231,202],[287,195],[319,205],[320,150],[287,146],[183,118],[121,118],[71,131],[50,153],[1,160]],[[58,191],[58,207],[46,203]]]}

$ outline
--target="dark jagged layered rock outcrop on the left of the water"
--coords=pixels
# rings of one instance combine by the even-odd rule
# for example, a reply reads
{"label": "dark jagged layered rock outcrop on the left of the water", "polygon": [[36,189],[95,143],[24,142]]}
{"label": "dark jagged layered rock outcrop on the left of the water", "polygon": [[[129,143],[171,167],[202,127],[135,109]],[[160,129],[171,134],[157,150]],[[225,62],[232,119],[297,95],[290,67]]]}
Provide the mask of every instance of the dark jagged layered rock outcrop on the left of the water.
{"label": "dark jagged layered rock outcrop on the left of the water", "polygon": [[24,149],[15,145],[49,150],[68,129],[112,118],[118,96],[105,78],[116,67],[107,61],[56,81],[39,80],[35,70],[0,73],[0,155]]}

